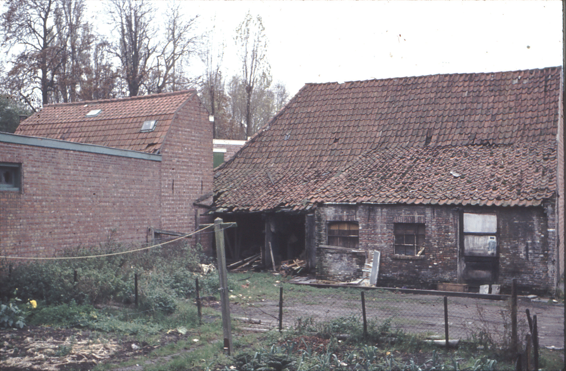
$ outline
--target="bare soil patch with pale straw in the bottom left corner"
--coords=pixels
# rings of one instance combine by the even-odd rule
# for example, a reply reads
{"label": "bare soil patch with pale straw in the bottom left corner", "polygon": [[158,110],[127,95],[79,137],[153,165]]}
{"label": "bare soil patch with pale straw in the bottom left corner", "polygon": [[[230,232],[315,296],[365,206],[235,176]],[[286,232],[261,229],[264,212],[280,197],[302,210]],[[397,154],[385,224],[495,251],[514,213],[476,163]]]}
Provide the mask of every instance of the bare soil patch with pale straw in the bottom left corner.
{"label": "bare soil patch with pale straw in the bottom left corner", "polygon": [[[160,339],[160,346],[187,339],[191,334],[170,332]],[[147,355],[159,346],[149,346],[128,337],[102,338],[88,330],[28,326],[0,331],[0,369],[80,370],[98,363],[120,363],[135,356]]]}

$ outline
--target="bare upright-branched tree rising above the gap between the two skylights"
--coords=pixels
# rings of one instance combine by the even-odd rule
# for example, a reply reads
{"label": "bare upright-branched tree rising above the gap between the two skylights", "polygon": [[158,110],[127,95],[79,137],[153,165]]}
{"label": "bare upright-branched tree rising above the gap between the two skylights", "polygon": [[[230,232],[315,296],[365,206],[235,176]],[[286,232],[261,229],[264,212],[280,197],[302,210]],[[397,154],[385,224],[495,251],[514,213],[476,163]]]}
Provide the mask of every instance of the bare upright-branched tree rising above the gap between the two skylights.
{"label": "bare upright-branched tree rising above the gap between the two skylights", "polygon": [[127,84],[128,94],[136,96],[148,78],[155,57],[156,31],[152,27],[155,9],[144,0],[113,0],[108,14],[119,33],[118,42],[111,51],[121,64],[121,78]]}

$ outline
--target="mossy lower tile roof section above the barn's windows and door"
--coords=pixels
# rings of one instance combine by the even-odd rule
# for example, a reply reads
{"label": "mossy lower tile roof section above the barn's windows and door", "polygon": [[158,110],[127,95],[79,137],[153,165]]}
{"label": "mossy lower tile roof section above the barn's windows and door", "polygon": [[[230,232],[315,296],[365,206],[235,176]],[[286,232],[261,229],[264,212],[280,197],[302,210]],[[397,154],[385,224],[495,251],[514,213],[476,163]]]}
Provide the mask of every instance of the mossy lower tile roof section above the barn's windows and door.
{"label": "mossy lower tile roof section above the barn's windows and door", "polygon": [[529,206],[556,191],[556,142],[376,148],[310,202]]}

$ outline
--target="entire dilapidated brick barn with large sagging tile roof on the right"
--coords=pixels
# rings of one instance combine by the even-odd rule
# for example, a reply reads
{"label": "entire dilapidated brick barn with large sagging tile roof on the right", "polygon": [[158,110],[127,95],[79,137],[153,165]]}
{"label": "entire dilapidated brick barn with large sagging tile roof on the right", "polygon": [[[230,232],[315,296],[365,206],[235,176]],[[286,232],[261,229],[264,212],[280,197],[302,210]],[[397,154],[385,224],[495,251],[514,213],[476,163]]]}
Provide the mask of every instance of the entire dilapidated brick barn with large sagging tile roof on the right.
{"label": "entire dilapidated brick barn with large sagging tile roof on the right", "polygon": [[[552,292],[564,271],[561,67],[306,84],[215,169],[234,259],[321,279]],[[231,247],[230,247],[231,246]]]}

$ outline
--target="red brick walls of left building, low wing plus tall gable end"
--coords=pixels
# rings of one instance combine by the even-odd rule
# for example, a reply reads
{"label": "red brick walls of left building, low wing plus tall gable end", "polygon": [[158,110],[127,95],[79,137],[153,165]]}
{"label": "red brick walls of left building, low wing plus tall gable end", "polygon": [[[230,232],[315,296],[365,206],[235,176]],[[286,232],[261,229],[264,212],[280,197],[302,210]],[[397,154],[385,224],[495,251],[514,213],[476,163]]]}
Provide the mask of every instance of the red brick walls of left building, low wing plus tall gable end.
{"label": "red brick walls of left building, low wing plus tall gable end", "polygon": [[[160,155],[147,156],[152,159],[33,139],[35,145],[0,140],[0,162],[22,164],[21,191],[0,190],[1,255],[48,257],[109,239],[146,242],[149,228],[191,232],[208,221],[200,217],[206,210],[193,205],[212,191],[212,127],[196,95],[177,110]],[[191,241],[197,240],[205,248],[211,242]]]}

